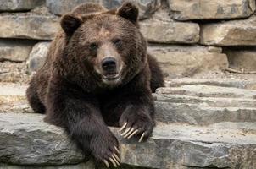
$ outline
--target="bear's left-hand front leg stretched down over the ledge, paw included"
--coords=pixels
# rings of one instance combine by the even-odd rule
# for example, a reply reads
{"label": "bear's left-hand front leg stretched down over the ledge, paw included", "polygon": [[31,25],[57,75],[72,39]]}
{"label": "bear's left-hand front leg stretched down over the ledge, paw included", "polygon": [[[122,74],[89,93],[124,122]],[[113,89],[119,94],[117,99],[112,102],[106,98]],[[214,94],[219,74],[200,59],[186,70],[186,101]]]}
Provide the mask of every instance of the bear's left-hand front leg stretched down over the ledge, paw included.
{"label": "bear's left-hand front leg stretched down over the ledge, paw included", "polygon": [[118,140],[103,121],[97,98],[70,86],[53,85],[47,94],[48,123],[61,126],[96,161],[120,165]]}

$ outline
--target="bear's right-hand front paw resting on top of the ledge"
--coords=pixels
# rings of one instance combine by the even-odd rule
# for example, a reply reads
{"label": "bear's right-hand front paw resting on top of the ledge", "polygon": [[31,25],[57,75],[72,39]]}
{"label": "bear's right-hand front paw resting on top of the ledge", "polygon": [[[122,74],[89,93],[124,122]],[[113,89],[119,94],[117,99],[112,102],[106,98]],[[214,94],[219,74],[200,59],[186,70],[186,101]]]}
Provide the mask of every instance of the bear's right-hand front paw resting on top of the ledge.
{"label": "bear's right-hand front paw resting on top of the ledge", "polygon": [[146,140],[153,132],[153,120],[147,113],[140,112],[124,112],[120,117],[120,135],[126,139],[132,136],[140,136],[139,142]]}

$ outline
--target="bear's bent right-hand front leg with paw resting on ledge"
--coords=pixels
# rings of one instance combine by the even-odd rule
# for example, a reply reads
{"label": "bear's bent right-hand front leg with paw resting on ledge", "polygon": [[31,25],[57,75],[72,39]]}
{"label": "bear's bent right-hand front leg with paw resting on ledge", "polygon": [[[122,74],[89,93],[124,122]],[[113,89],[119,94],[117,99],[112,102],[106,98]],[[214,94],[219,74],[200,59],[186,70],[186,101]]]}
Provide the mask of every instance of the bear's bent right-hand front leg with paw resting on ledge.
{"label": "bear's bent right-hand front leg with paw resting on ledge", "polygon": [[120,117],[120,135],[130,139],[134,135],[140,136],[139,142],[153,132],[154,106],[150,91],[132,93],[125,96],[125,111]]}

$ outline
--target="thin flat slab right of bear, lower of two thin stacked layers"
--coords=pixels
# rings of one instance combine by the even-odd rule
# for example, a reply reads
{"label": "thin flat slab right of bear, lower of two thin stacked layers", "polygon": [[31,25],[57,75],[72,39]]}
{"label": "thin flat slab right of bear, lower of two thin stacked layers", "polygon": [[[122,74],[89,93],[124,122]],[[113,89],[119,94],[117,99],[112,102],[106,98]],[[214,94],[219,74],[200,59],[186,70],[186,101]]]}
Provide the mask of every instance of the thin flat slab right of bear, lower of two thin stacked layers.
{"label": "thin flat slab right of bear, lower of two thin stacked layers", "polygon": [[216,98],[216,97],[198,97],[190,95],[162,95],[153,94],[155,101],[170,103],[197,104],[201,106],[213,107],[254,107],[256,108],[255,99],[247,98]]}

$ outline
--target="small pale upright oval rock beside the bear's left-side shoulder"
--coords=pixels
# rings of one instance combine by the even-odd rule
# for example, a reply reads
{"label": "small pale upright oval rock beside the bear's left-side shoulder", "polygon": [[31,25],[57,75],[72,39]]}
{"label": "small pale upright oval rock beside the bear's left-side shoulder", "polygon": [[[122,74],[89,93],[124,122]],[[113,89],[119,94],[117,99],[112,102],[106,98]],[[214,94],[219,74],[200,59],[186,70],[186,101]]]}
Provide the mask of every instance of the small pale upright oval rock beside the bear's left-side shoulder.
{"label": "small pale upright oval rock beside the bear's left-side shoulder", "polygon": [[50,42],[39,42],[33,47],[27,60],[27,66],[30,72],[36,72],[38,68],[42,67],[47,57],[49,46]]}

